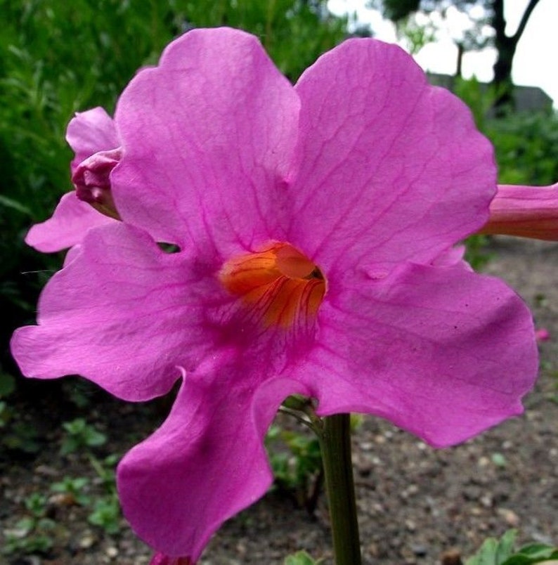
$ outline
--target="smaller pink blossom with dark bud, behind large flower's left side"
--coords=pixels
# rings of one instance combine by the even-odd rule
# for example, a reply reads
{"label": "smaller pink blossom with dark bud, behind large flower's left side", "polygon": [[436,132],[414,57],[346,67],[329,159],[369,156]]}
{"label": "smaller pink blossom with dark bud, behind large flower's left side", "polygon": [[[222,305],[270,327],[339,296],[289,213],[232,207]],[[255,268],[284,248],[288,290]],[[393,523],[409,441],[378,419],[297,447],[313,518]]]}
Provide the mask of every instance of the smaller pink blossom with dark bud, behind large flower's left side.
{"label": "smaller pink blossom with dark bud, behind large flower's left side", "polygon": [[112,118],[103,108],[78,112],[66,139],[75,152],[70,168],[76,190],[63,195],[52,217],[33,226],[25,238],[27,245],[45,253],[77,245],[87,230],[118,217],[108,178],[120,158]]}

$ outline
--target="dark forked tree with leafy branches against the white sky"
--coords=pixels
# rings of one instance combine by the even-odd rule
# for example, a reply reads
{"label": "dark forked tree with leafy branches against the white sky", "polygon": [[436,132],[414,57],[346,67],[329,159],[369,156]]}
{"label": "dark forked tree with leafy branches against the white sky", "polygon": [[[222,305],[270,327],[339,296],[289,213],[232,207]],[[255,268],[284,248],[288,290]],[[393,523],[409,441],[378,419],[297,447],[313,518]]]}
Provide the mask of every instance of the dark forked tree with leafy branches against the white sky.
{"label": "dark forked tree with leafy branches against the white sky", "polygon": [[[469,15],[474,6],[481,8],[479,17],[471,18],[469,15],[472,20],[472,30],[465,33],[463,41],[456,41],[458,53],[460,53],[460,56],[458,56],[458,71],[460,69],[460,57],[465,51],[483,48],[490,41],[498,53],[493,67],[493,84],[496,91],[500,93],[496,100],[497,106],[512,102],[512,63],[515,51],[531,13],[533,13],[538,2],[539,0],[529,1],[516,32],[513,35],[507,35],[505,32],[504,0],[370,0],[372,7],[379,8],[385,18],[396,24],[403,22],[418,11],[428,15],[436,12],[443,16],[448,8],[453,6],[458,11]],[[481,28],[484,25],[493,28],[491,37],[483,37]]]}

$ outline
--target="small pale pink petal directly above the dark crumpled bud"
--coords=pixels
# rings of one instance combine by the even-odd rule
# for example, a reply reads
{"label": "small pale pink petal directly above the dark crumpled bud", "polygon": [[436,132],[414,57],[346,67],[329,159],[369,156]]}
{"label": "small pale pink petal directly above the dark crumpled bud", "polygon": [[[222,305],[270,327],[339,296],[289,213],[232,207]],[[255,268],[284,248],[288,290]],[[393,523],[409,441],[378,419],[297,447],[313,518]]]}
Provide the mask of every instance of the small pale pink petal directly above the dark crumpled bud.
{"label": "small pale pink petal directly above the dark crumpled bud", "polygon": [[74,150],[72,173],[77,165],[98,151],[120,145],[115,122],[103,108],[76,112],[67,126],[66,141]]}

